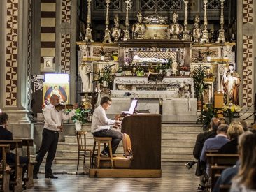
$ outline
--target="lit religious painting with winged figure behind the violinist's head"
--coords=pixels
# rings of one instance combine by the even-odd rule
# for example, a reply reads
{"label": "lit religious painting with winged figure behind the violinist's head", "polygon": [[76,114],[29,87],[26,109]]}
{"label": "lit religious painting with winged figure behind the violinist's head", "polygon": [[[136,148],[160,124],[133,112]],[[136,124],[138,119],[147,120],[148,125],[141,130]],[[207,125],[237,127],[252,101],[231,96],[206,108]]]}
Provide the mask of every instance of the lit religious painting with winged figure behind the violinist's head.
{"label": "lit religious painting with winged figure behind the violinist's head", "polygon": [[50,101],[50,97],[55,94],[59,96],[61,103],[69,102],[69,83],[43,83],[43,103]]}

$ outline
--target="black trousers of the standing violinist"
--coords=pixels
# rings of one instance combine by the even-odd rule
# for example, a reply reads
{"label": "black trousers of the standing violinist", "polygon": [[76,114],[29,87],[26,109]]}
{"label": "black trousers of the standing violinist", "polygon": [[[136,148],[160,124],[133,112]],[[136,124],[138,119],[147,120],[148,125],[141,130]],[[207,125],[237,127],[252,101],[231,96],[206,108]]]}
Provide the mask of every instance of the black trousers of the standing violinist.
{"label": "black trousers of the standing violinist", "polygon": [[40,168],[40,165],[45,157],[46,152],[46,164],[45,164],[45,174],[52,173],[52,161],[55,158],[56,149],[59,140],[59,132],[50,131],[46,128],[43,129],[43,139],[41,147],[36,156],[36,165],[34,165],[34,174],[37,174]]}

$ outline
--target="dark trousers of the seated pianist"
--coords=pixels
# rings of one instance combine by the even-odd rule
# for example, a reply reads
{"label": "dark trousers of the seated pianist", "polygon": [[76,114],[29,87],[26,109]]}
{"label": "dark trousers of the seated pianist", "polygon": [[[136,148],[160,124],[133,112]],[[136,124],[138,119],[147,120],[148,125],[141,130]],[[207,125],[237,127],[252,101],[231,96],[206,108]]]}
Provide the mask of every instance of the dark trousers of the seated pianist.
{"label": "dark trousers of the seated pianist", "polygon": [[[111,129],[103,129],[103,130],[92,133],[92,135],[94,135],[94,137],[110,137],[110,138],[112,138],[111,146],[112,146],[113,154],[115,154],[115,151],[118,148],[120,141],[122,140],[122,133],[120,133],[118,131],[111,130]],[[106,149],[104,149],[104,151],[109,154],[108,147],[106,147]]]}

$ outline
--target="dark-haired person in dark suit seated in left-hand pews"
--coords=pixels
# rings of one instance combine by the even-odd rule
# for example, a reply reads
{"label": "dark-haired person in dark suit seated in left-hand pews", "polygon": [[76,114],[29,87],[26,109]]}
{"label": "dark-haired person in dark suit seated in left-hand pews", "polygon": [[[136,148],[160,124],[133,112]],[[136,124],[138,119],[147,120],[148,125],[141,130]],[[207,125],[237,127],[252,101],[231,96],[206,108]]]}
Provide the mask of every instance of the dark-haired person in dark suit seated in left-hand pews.
{"label": "dark-haired person in dark suit seated in left-hand pews", "polygon": [[[8,131],[7,129],[7,122],[8,122],[8,115],[5,112],[0,113],[0,140],[13,140],[13,133]],[[0,161],[2,159],[2,154],[0,152]],[[6,163],[13,167],[15,165],[15,154],[8,153],[6,154]],[[23,170],[22,170],[22,178],[24,177],[24,174],[27,170],[27,165],[29,163],[29,159],[24,156],[20,156],[20,164],[24,164]],[[15,177],[14,175],[10,175],[10,179],[13,180]]]}

